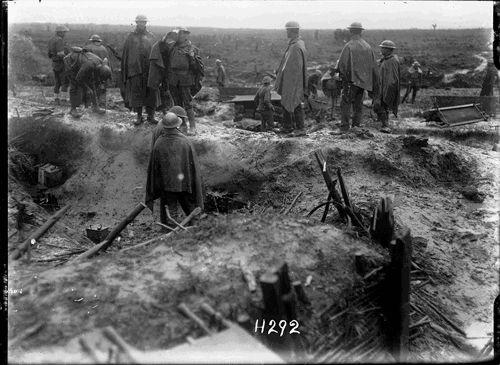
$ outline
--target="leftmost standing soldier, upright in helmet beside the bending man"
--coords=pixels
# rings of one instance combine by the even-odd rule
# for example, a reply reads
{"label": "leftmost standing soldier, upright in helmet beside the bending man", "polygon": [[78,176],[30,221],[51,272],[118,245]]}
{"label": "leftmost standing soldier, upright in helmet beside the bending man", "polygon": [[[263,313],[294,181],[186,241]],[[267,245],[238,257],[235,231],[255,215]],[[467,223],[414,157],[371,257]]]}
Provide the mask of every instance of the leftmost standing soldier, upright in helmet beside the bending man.
{"label": "leftmost standing soldier, upright in helmet beside the bending man", "polygon": [[[52,59],[52,70],[54,71],[54,104],[66,103],[69,81],[64,73],[64,56],[69,53],[64,37],[69,29],[64,25],[56,27],[56,35],[49,40],[49,58]],[[59,99],[59,89],[62,91],[62,98]]]}

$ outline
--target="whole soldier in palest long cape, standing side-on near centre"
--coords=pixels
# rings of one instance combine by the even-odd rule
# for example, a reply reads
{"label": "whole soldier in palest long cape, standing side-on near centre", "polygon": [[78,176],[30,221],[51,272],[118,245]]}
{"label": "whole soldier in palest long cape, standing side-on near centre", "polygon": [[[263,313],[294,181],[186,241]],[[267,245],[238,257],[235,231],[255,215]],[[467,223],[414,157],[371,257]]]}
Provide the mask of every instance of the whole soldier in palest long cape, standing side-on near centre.
{"label": "whole soldier in palest long cape, standing side-on near centre", "polygon": [[[291,133],[292,137],[305,135],[304,109],[307,97],[306,47],[300,39],[300,25],[296,21],[285,24],[288,47],[276,71],[275,90],[281,95],[284,128],[280,133]],[[294,125],[296,131],[293,131]]]}

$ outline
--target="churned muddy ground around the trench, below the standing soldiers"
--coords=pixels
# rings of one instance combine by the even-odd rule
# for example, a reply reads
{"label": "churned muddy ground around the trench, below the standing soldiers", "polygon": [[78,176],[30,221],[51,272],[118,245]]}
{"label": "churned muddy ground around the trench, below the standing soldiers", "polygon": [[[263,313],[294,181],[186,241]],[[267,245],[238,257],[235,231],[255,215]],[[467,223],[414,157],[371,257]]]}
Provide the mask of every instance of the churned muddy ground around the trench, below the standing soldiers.
{"label": "churned muddy ground around the trench, below the standing soldiers", "polygon": [[[31,264],[23,257],[9,265],[9,339],[45,324],[12,348],[10,360],[33,361],[30,353],[43,359],[42,353],[50,356],[56,346],[71,347],[68,343],[75,336],[106,325],[139,350],[170,348],[185,342],[187,335],[202,335],[177,312],[180,302],[194,309],[207,301],[228,318],[248,312],[255,320],[261,297],[247,290],[238,268],[242,258],[257,277],[277,258],[287,260],[294,279],[305,281],[312,275],[305,289],[313,308],[299,318],[309,333],[310,350],[317,350],[315,344],[327,336],[318,327],[318,313],[368,285],[355,269],[354,253],[361,250],[379,264],[388,261],[386,250],[346,228],[334,213],[325,224],[320,211],[305,218],[327,196],[314,157],[318,148],[331,171],[342,168],[365,222],[380,198],[392,198],[397,227],[411,229],[413,261],[432,279],[420,291],[474,338],[462,339],[459,350],[424,327],[411,341],[410,359],[477,359],[491,336],[500,266],[500,155],[491,151],[499,137],[489,127],[499,125],[498,119],[474,125],[482,127],[480,131],[471,127],[445,133],[414,117],[425,106],[424,91],[422,104],[402,106],[400,119],[391,122],[394,134],[379,133],[367,113],[363,128],[368,133],[341,136],[336,121],[315,125],[308,120],[312,132],[290,139],[224,127],[234,109],[209,98],[197,103],[200,134],[193,137],[204,182],[208,191],[237,193],[244,204],[230,215],[207,212],[196,227],[167,242],[120,253],[162,234],[156,225],[156,203],[154,213],[139,215],[107,253],[84,263],[55,266],[61,261],[42,260],[90,247],[85,228],[112,228],[143,200],[153,127],[132,126],[134,114],[119,104],[105,116],[88,113],[78,121],[67,114],[33,119],[34,110],[49,106],[41,95],[33,96],[37,92],[26,88],[17,97],[9,96],[9,135],[21,136],[19,148],[36,154],[37,163],[64,167],[65,183],[50,192],[60,206],[72,208],[33,246]],[[110,99],[118,100],[116,90]],[[408,130],[427,136],[428,146],[406,146]],[[33,177],[19,179],[9,185],[9,235],[15,232],[15,203],[24,199],[34,216],[22,231],[27,237],[51,212],[30,201]],[[462,191],[470,188],[484,194],[483,203],[464,197]],[[291,212],[280,214],[299,192]],[[9,249],[20,240],[19,233],[14,235]],[[421,282],[415,279],[412,284]],[[419,299],[412,296],[412,301]]]}

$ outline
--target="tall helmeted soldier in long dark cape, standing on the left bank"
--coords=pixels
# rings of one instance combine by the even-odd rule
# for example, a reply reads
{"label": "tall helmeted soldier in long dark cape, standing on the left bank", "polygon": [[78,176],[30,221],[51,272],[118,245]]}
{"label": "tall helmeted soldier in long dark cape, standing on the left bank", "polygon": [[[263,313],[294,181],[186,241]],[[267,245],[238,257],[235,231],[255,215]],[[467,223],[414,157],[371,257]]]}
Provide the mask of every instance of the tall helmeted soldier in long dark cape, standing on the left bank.
{"label": "tall helmeted soldier in long dark cape, standing on the left bank", "polygon": [[137,27],[125,41],[121,61],[126,103],[137,113],[135,125],[143,122],[142,107],[146,107],[148,122],[156,124],[154,113],[159,97],[156,90],[148,87],[149,55],[156,36],[146,29],[148,19],[145,15],[137,15],[135,22]]}

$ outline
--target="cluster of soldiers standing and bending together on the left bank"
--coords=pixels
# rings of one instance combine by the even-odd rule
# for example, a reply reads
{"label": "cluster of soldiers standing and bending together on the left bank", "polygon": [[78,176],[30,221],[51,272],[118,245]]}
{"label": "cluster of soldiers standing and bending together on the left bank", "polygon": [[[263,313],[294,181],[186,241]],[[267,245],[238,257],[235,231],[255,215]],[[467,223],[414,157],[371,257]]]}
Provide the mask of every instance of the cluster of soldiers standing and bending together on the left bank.
{"label": "cluster of soldiers standing and bending together on the left bank", "polygon": [[[136,29],[125,40],[120,57],[122,96],[125,105],[137,114],[134,124],[144,122],[143,109],[146,109],[147,121],[157,124],[157,109],[165,114],[169,107],[177,105],[186,111],[189,121],[189,132],[184,120],[181,131],[195,135],[192,100],[201,89],[204,66],[198,48],[189,40],[190,32],[185,27],[177,27],[157,40],[146,28],[148,19],[145,15],[138,15],[135,22]],[[80,118],[82,113],[77,108],[82,103],[88,106],[89,101],[94,112],[105,113],[100,106],[106,102],[106,86],[113,75],[108,50],[101,45],[98,35],[92,36],[88,45],[69,48],[64,41],[68,30],[65,26],[58,26],[56,35],[49,41],[49,57],[55,77],[54,102],[56,105],[65,103],[70,86],[70,114],[73,117]],[[225,85],[225,70],[222,62],[217,61],[217,82]]]}

